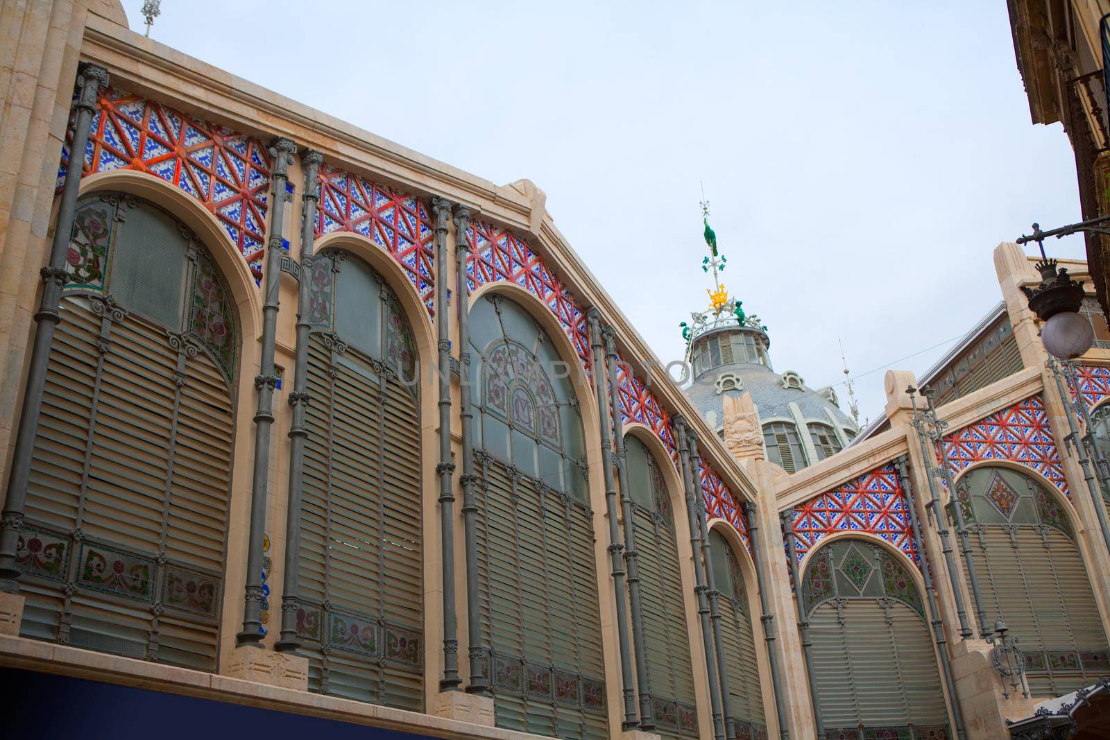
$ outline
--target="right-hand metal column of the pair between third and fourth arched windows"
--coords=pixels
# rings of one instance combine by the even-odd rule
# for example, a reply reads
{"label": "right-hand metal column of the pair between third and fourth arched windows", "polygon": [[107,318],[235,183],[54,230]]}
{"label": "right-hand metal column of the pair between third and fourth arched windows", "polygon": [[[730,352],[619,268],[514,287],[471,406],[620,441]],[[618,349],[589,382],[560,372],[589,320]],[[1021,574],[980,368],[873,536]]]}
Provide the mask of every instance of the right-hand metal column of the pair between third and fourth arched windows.
{"label": "right-hand metal column of the pair between third and fourth arched windows", "polygon": [[620,418],[620,396],[617,392],[616,332],[602,327],[605,339],[605,369],[609,378],[609,412],[613,415],[613,439],[616,445],[617,479],[620,483],[620,510],[624,515],[625,565],[628,568],[628,600],[632,602],[632,640],[636,651],[636,687],[639,692],[639,726],[655,729],[655,707],[647,681],[647,642],[644,637],[644,609],[640,601],[639,557],[636,553],[636,526],[633,520],[632,488],[628,483],[628,458],[624,446],[624,422]]}

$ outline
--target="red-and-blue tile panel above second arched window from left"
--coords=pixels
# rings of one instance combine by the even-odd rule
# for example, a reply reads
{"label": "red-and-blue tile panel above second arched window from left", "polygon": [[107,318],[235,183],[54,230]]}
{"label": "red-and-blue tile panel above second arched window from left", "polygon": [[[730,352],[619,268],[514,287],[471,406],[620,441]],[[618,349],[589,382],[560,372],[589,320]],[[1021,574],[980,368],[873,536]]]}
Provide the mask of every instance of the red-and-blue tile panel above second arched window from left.
{"label": "red-and-blue tile panel above second arched window from left", "polygon": [[435,226],[427,203],[326,164],[320,169],[316,239],[362,234],[396,260],[430,314],[435,298]]}

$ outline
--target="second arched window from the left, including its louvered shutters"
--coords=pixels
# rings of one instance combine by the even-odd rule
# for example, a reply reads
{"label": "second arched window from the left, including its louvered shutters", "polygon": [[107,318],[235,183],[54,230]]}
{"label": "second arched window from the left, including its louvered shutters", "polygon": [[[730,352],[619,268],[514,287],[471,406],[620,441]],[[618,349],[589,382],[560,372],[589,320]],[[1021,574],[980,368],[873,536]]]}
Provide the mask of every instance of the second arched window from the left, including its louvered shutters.
{"label": "second arched window from the left, including its louvered shutters", "polygon": [[384,278],[312,271],[296,630],[313,691],[424,709],[420,407],[412,331]]}

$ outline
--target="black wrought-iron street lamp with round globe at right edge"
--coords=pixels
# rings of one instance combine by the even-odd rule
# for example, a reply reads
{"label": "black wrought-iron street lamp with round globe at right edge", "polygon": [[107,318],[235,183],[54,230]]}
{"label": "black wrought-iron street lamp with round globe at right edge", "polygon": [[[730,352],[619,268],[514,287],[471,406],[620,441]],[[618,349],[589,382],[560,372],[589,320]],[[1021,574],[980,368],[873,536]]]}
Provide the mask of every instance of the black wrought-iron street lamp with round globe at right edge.
{"label": "black wrought-iron street lamp with round globe at right edge", "polygon": [[1045,240],[1049,236],[1067,236],[1078,231],[1110,235],[1106,224],[1110,216],[1091,219],[1082,223],[1061,226],[1051,231],[1041,231],[1040,224],[1033,224],[1032,236],[1022,235],[1018,244],[1037,242],[1041,261],[1037,271],[1041,274],[1041,284],[1021,291],[1029,300],[1029,307],[1045,322],[1041,327],[1041,343],[1050,355],[1059,359],[1073,359],[1094,344],[1094,330],[1086,316],[1079,313],[1083,305],[1083,283],[1076,282],[1066,267],[1060,267],[1056,260],[1045,254]]}

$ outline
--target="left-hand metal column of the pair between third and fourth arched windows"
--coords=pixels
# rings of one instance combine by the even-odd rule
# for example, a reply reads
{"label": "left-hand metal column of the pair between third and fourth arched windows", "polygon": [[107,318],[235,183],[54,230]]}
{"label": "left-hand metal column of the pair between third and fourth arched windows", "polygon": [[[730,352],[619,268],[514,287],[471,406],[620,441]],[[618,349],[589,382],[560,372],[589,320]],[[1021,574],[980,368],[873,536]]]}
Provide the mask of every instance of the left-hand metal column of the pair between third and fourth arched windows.
{"label": "left-hand metal column of the pair between third and fourth arched windows", "polygon": [[616,591],[617,641],[620,649],[620,689],[624,696],[622,729],[639,727],[636,718],[636,689],[633,688],[632,658],[628,655],[628,609],[625,606],[625,571],[620,551],[620,528],[617,524],[617,491],[613,483],[613,437],[609,427],[608,404],[605,398],[605,366],[602,363],[602,313],[597,308],[586,312],[589,323],[589,351],[597,389],[597,417],[602,436],[602,469],[605,474],[605,513],[609,519],[609,559],[613,567],[613,587]]}

